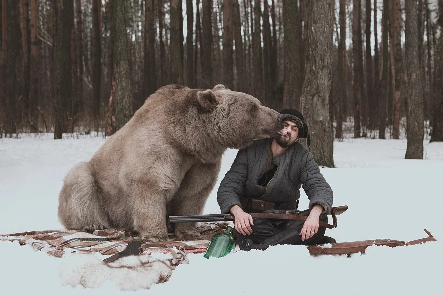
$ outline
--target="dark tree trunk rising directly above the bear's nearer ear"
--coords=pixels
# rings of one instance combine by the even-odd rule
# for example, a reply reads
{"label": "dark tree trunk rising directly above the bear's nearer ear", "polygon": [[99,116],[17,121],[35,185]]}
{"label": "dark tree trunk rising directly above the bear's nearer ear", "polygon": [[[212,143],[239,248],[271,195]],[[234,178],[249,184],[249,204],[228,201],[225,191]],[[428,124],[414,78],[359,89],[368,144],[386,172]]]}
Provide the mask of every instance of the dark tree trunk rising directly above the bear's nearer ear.
{"label": "dark tree trunk rising directly above the bear's nearer ear", "polygon": [[212,88],[212,0],[202,1],[202,87]]}

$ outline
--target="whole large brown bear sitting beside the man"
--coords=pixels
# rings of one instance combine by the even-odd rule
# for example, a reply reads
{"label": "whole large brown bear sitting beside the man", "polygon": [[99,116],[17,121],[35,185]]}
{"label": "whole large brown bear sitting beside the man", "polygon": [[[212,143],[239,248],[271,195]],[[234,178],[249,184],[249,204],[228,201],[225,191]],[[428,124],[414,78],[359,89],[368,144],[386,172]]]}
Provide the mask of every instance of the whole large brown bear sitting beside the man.
{"label": "whole large brown bear sitting beside the man", "polygon": [[[69,230],[124,227],[167,239],[167,215],[202,214],[227,148],[282,128],[278,112],[223,85],[159,88],[91,160],[67,173],[58,218]],[[175,235],[198,237],[195,226],[176,224]]]}

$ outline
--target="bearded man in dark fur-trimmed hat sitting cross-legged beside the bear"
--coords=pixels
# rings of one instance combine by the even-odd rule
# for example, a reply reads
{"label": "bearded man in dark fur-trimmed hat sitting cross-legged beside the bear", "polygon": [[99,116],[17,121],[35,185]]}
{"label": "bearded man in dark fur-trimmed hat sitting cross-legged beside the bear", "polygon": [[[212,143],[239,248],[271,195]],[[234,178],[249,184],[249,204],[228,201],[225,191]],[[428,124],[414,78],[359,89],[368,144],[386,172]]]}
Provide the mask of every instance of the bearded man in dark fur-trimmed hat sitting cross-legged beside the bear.
{"label": "bearded man in dark fur-trimmed hat sitting cross-legged beside the bear", "polygon": [[[335,243],[325,237],[325,228],[332,208],[332,190],[320,173],[310,153],[299,138],[307,138],[309,130],[303,115],[285,109],[284,130],[274,138],[259,140],[237,153],[231,169],[221,181],[217,201],[222,214],[235,217],[233,237],[242,250],[267,249],[270,245],[313,245]],[[309,208],[295,210],[300,186],[309,199]],[[305,222],[287,219],[252,218],[253,212],[287,211],[307,216]]]}

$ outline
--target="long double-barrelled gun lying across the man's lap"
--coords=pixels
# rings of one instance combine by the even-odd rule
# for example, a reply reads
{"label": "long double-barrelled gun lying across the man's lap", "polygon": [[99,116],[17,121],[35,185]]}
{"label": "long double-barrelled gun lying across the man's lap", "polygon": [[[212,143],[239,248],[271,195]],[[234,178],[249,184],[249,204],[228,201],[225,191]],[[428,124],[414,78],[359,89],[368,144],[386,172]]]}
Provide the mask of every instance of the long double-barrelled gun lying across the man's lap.
{"label": "long double-barrelled gun lying across the man's lap", "polygon": [[[348,209],[348,206],[332,207],[332,210],[328,215],[332,216],[333,224],[328,224],[320,220],[319,226],[326,228],[336,228],[337,227],[337,215],[342,214]],[[269,219],[292,219],[305,221],[307,216],[294,214],[295,211],[286,211],[285,213],[249,213],[252,217],[256,218],[269,218]],[[168,216],[167,222],[177,223],[177,222],[214,222],[214,221],[233,221],[234,215],[232,214],[206,214],[206,215],[179,215],[179,216]]]}

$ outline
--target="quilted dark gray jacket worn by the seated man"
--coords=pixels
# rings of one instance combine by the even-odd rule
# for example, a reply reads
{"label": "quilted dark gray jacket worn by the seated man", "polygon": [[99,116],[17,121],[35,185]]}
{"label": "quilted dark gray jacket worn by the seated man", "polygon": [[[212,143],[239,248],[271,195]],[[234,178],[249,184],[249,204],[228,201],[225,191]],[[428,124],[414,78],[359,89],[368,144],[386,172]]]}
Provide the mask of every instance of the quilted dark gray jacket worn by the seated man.
{"label": "quilted dark gray jacket worn by the seated man", "polygon": [[299,142],[274,158],[278,166],[267,187],[257,181],[269,169],[272,161],[271,139],[255,141],[237,153],[231,169],[226,172],[217,192],[217,201],[222,214],[230,213],[234,205],[241,207],[240,196],[253,197],[268,202],[295,202],[300,198],[300,187],[309,198],[309,209],[315,204],[323,206],[320,218],[332,208],[332,189],[326,182],[312,153]]}

